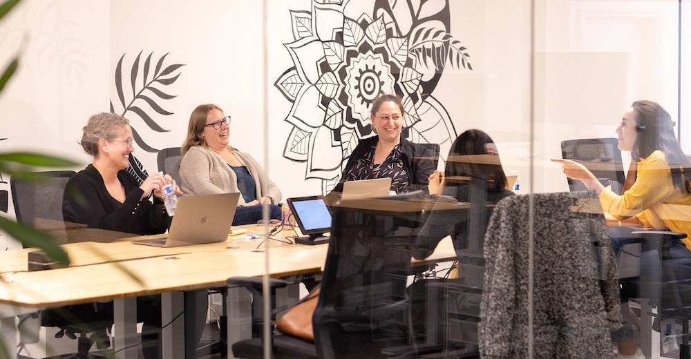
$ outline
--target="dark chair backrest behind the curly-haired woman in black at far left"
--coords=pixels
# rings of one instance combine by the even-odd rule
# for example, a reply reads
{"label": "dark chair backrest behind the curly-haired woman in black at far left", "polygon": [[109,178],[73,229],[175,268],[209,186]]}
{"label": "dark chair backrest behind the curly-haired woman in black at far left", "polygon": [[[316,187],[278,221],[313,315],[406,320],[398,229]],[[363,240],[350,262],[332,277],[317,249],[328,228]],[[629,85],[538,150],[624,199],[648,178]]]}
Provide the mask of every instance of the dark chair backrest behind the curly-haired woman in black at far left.
{"label": "dark chair backrest behind the curly-haired woman in black at far left", "polygon": [[44,179],[30,181],[13,176],[10,178],[10,190],[17,222],[43,229],[41,221],[37,221],[39,218],[63,222],[62,197],[65,185],[75,171],[48,171],[39,174],[43,175]]}

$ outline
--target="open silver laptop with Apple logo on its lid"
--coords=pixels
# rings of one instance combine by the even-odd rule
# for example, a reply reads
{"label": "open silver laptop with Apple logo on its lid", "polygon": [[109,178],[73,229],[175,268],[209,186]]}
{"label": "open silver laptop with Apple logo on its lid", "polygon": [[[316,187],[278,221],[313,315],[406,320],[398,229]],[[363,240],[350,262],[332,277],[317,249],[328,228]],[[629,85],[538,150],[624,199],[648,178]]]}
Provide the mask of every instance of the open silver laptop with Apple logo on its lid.
{"label": "open silver laptop with Apple logo on its lid", "polygon": [[233,224],[240,193],[189,195],[178,200],[168,237],[133,240],[149,246],[191,246],[224,242]]}

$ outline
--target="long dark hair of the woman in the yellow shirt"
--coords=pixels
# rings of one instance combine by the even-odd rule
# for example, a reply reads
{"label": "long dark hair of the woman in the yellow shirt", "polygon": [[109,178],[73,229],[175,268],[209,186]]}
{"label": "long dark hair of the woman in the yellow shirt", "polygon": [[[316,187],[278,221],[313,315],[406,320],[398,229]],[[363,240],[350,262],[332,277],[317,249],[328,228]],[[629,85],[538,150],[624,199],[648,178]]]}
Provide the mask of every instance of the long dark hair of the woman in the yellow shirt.
{"label": "long dark hair of the woman in the yellow shirt", "polygon": [[631,151],[632,159],[638,161],[654,151],[661,151],[667,157],[674,186],[691,193],[691,185],[684,175],[684,169],[691,162],[676,140],[672,116],[653,101],[634,101],[631,107],[636,112],[636,141]]}

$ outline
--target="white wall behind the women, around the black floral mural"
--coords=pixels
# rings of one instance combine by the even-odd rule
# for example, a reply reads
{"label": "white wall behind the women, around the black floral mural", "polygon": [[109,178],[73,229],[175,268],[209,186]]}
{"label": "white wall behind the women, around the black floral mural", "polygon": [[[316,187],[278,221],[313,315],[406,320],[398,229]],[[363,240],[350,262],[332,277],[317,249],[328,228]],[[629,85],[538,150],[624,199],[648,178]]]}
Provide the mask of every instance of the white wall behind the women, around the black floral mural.
{"label": "white wall behind the women, around the black floral mural", "polygon": [[[21,67],[0,95],[0,137],[8,137],[0,141],[0,151],[30,149],[86,165],[90,159],[76,141],[88,115],[108,110],[111,100],[115,112],[122,111],[115,90],[117,61],[125,55],[123,77],[129,86],[140,52],[138,81],[149,54],[154,63],[168,54],[164,66],[184,66],[176,70],[180,77],[174,84],[159,86],[176,95],[160,101],[173,115],[154,113],[164,132],[126,114],[146,144],[180,146],[191,110],[215,103],[232,117],[231,144],[263,163],[284,197],[320,193],[323,182],[306,179],[307,164],[283,156],[292,103],[274,82],[295,64],[288,50],[295,41],[292,15],[319,14],[313,18],[319,36],[329,37],[337,6],[310,0],[267,3],[264,22],[260,1],[23,1],[0,23],[0,65],[21,52]],[[357,17],[373,1],[346,3],[343,11]],[[434,8],[444,1],[429,3]],[[433,97],[456,133],[488,132],[498,142],[504,168],[517,169],[526,190],[566,191],[558,166],[549,162],[560,157],[562,140],[613,136],[634,99],[659,101],[676,113],[676,3],[536,1],[533,42],[529,0],[450,1],[449,32],[468,49],[473,70],[447,66]],[[308,50],[296,51],[304,51],[299,60],[305,71],[314,72],[318,59],[307,56]],[[319,113],[318,101],[308,99],[311,107],[301,110]],[[442,152],[448,149],[448,130],[439,126],[428,135],[442,143]],[[313,148],[314,162],[334,155],[325,138]],[[155,171],[155,153],[138,146],[135,155]],[[0,184],[1,189],[9,186]]]}

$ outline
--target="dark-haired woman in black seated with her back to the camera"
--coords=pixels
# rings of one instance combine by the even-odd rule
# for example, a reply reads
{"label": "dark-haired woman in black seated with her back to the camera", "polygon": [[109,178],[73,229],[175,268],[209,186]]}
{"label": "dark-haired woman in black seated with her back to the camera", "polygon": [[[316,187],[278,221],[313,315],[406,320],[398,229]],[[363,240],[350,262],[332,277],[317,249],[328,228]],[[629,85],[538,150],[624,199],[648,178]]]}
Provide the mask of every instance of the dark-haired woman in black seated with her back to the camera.
{"label": "dark-haired woman in black seated with her back to the camera", "polygon": [[[480,157],[464,157],[470,155],[485,155],[487,158],[477,161]],[[471,185],[467,181],[459,181],[460,177],[486,179],[486,202],[495,204],[502,198],[513,195],[513,192],[506,188],[507,176],[504,174],[497,146],[491,137],[481,130],[466,130],[451,144],[444,172],[435,171],[429,176],[430,195],[433,198],[439,195],[442,199],[451,197],[459,202],[469,202]],[[428,257],[446,235],[451,235],[456,251],[467,249],[467,219],[467,212],[431,211],[413,245],[413,257]],[[489,213],[487,219],[489,220]],[[485,230],[486,228],[483,228],[480,234],[484,234]]]}

